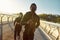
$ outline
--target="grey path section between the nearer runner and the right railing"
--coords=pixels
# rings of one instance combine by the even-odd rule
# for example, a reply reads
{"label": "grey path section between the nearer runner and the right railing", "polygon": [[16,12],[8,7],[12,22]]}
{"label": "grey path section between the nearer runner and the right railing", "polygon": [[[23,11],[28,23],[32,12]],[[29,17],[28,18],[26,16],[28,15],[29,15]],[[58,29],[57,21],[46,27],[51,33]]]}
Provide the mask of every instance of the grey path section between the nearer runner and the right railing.
{"label": "grey path section between the nearer runner and the right railing", "polygon": [[34,33],[34,40],[49,40],[40,28],[37,28]]}

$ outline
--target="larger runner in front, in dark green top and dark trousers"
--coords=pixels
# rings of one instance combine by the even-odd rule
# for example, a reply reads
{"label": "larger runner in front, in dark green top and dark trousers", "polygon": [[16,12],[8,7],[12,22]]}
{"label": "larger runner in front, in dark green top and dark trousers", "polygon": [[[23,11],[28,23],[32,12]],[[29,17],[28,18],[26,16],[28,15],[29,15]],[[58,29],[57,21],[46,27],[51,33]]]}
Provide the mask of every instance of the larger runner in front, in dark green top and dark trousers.
{"label": "larger runner in front, in dark green top and dark trousers", "polygon": [[36,15],[35,11],[37,6],[35,3],[32,3],[30,6],[30,12],[27,12],[23,19],[22,25],[25,25],[25,31],[23,33],[23,40],[33,40],[35,29],[39,26],[39,16]]}

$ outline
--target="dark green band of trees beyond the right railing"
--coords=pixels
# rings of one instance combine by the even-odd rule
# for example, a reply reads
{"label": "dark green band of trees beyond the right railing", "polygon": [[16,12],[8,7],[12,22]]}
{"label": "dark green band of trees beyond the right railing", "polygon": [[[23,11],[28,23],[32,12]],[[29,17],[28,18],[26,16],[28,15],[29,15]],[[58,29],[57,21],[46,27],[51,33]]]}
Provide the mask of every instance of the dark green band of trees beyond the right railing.
{"label": "dark green band of trees beyond the right railing", "polygon": [[40,19],[60,23],[60,15],[52,15],[52,14],[40,14]]}

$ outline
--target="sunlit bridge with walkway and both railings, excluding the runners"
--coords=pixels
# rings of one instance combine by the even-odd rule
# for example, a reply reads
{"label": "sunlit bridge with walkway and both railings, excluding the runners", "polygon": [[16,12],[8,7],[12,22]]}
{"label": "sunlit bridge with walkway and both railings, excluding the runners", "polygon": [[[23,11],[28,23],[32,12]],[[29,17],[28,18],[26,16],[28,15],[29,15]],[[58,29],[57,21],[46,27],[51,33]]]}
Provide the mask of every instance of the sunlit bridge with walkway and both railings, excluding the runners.
{"label": "sunlit bridge with walkway and both railings, excluding the runners", "polygon": [[[13,22],[18,14],[0,14],[0,40],[14,40]],[[23,40],[24,26],[20,33]],[[60,24],[40,20],[40,26],[34,32],[34,40],[60,40]]]}

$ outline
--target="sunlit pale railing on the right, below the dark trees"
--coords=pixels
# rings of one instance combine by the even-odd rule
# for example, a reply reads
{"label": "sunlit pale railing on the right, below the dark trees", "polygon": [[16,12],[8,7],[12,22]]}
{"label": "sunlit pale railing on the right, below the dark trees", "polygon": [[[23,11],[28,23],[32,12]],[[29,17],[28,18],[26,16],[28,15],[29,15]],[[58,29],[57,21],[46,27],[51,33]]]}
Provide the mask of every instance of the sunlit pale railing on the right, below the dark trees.
{"label": "sunlit pale railing on the right, below the dark trees", "polygon": [[60,40],[60,24],[40,20],[40,26],[52,40]]}

